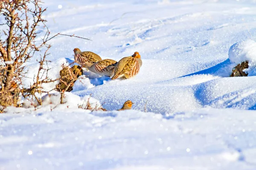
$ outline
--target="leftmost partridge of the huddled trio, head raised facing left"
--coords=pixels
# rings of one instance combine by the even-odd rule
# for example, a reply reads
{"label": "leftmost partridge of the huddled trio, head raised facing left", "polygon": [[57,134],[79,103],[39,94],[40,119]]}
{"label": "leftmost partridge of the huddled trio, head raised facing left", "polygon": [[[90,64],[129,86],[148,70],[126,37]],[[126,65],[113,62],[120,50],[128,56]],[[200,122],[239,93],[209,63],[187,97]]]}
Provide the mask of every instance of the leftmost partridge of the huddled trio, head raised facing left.
{"label": "leftmost partridge of the huddled trio, head raised facing left", "polygon": [[79,64],[82,65],[82,67],[88,68],[90,67],[94,62],[101,61],[102,58],[99,57],[99,55],[91,52],[91,51],[83,51],[79,48],[75,48],[74,50],[74,57],[75,57],[75,62],[78,62]]}

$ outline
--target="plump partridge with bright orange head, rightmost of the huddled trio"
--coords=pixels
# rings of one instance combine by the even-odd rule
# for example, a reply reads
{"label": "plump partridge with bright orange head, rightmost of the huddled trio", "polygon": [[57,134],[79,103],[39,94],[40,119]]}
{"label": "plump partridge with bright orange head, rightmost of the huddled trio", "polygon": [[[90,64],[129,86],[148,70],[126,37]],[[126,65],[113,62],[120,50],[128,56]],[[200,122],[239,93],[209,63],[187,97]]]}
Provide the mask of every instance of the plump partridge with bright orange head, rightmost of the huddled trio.
{"label": "plump partridge with bright orange head, rightmost of the huddled trio", "polygon": [[116,64],[114,75],[111,79],[129,79],[134,77],[139,73],[141,65],[142,60],[140,58],[139,52],[135,52],[130,57],[124,57],[120,59],[120,61]]}

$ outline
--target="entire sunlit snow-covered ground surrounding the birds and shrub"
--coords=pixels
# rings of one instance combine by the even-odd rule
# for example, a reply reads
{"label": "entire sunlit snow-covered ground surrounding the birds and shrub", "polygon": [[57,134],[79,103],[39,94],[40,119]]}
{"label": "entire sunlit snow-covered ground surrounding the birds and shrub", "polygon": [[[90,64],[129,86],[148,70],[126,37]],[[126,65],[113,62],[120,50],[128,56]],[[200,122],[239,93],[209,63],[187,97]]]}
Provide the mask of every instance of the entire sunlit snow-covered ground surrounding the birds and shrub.
{"label": "entire sunlit snow-covered ground surrounding the birds and shrub", "polygon": [[[116,60],[138,51],[143,66],[124,81],[86,72],[89,78],[72,91],[78,96],[65,105],[9,108],[0,115],[0,170],[256,169],[255,0],[45,0],[45,6],[52,33],[93,40],[53,39],[53,78],[72,62],[73,48]],[[250,60],[249,77],[229,77],[241,59]],[[36,57],[27,69],[33,77]],[[109,111],[78,109],[90,94]],[[128,99],[134,110],[112,111]]]}

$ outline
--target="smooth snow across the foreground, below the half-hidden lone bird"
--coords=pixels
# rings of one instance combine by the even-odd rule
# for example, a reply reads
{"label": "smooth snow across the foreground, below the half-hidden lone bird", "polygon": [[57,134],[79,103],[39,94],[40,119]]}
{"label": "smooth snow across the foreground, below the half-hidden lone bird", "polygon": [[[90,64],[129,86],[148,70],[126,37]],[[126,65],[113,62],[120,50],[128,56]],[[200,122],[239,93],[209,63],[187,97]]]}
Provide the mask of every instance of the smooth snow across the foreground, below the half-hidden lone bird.
{"label": "smooth snow across the foreground, below the half-hidden lone bird", "polygon": [[256,164],[254,111],[206,108],[163,117],[56,109],[3,114],[1,121],[2,169],[253,170]]}

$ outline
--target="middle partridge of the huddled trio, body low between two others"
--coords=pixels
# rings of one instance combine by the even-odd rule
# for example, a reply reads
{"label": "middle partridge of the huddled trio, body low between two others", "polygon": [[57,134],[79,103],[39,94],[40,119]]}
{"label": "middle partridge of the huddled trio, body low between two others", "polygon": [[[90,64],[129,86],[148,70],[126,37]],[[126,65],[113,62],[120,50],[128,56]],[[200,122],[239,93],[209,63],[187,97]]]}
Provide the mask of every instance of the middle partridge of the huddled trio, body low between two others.
{"label": "middle partridge of the huddled trio, body low between two others", "polygon": [[93,73],[99,74],[100,76],[111,77],[114,75],[114,69],[116,66],[116,61],[113,59],[103,59],[98,62],[87,64],[88,70]]}

